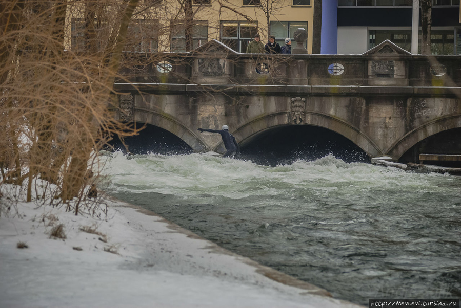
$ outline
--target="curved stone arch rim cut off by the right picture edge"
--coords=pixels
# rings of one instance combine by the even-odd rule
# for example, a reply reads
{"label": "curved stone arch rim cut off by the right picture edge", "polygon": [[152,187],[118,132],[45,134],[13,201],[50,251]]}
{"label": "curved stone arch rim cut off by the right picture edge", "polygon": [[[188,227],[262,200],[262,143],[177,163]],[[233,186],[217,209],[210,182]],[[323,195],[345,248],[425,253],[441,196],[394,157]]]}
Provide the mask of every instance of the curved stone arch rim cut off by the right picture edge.
{"label": "curved stone arch rim cut off by the right picture edge", "polygon": [[391,145],[389,151],[387,151],[387,155],[394,159],[399,159],[418,142],[453,128],[461,128],[461,114],[438,118],[414,128]]}

